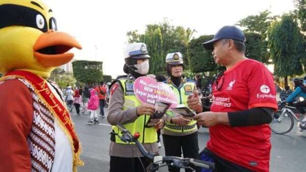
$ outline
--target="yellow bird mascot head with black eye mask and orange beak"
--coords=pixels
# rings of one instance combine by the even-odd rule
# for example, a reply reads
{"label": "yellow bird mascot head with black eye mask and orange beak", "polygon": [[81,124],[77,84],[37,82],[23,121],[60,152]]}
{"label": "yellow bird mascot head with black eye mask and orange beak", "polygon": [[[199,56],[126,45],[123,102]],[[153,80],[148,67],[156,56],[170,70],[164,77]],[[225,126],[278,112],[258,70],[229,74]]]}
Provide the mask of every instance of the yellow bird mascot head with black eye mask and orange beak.
{"label": "yellow bird mascot head with black eye mask and orange beak", "polygon": [[26,70],[49,78],[69,62],[71,48],[81,49],[72,36],[57,32],[57,22],[39,0],[0,0],[0,72]]}

